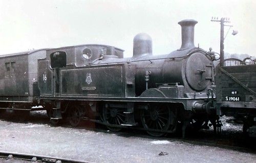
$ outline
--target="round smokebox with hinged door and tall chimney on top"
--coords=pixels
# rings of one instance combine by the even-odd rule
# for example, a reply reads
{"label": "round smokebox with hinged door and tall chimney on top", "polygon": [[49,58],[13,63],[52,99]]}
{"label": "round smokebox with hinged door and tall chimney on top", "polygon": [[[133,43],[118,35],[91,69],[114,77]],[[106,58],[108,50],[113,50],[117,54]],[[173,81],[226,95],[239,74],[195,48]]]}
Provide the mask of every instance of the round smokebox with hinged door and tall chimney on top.
{"label": "round smokebox with hinged door and tall chimney on top", "polygon": [[[194,26],[196,20],[179,22],[182,29],[182,45],[177,51],[168,55],[164,63],[164,78],[175,81],[179,79],[185,91],[203,91],[214,82],[212,58],[204,50],[194,45]],[[193,92],[194,93],[194,92]],[[187,94],[189,97],[189,94]]]}

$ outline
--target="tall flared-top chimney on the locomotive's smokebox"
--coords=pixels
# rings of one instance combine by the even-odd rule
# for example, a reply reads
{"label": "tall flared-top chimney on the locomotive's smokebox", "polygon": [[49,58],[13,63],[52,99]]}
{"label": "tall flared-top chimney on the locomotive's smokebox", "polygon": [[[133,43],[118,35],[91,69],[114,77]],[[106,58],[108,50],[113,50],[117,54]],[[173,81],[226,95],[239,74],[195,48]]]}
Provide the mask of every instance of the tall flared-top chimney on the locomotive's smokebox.
{"label": "tall flared-top chimney on the locomotive's smokebox", "polygon": [[178,22],[181,26],[181,48],[179,50],[195,48],[194,45],[194,27],[197,24],[196,20],[182,20]]}

